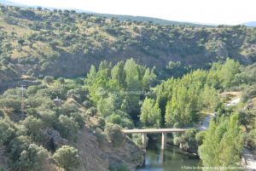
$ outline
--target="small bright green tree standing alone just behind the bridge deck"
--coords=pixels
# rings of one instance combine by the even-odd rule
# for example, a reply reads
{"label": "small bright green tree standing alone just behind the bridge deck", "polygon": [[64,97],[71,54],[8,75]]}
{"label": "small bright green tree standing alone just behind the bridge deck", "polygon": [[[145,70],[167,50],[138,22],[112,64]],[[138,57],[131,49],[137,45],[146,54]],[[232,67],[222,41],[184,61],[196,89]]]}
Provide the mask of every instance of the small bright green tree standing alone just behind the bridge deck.
{"label": "small bright green tree standing alone just behind the bridge deck", "polygon": [[162,117],[161,111],[154,100],[146,98],[141,109],[140,122],[144,127],[160,128]]}

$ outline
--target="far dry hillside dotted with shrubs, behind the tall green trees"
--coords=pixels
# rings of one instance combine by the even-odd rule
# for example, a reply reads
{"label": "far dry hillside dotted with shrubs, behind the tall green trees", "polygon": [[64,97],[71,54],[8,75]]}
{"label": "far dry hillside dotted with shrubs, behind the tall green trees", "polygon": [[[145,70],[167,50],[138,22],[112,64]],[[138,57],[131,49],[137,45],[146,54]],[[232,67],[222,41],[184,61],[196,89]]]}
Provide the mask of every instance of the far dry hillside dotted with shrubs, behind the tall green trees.
{"label": "far dry hillside dotted with shrubs, behind the tall green trees", "polygon": [[[133,57],[163,69],[169,61],[205,67],[230,57],[256,60],[256,29],[245,26],[161,26],[71,10],[0,7],[0,83],[22,75],[77,77],[102,60]],[[3,84],[1,84],[3,86]]]}

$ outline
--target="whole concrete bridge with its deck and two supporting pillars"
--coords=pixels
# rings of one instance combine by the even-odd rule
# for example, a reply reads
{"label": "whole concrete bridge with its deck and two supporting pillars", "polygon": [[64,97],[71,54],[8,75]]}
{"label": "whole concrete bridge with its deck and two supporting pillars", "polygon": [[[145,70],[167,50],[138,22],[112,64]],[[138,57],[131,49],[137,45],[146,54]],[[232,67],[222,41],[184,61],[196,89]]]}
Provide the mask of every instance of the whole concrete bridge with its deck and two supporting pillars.
{"label": "whole concrete bridge with its deck and two supporting pillars", "polygon": [[162,134],[161,149],[166,148],[166,134],[167,133],[183,133],[189,128],[144,128],[144,129],[125,129],[125,134],[142,134],[143,135],[143,149],[147,146],[147,134]]}

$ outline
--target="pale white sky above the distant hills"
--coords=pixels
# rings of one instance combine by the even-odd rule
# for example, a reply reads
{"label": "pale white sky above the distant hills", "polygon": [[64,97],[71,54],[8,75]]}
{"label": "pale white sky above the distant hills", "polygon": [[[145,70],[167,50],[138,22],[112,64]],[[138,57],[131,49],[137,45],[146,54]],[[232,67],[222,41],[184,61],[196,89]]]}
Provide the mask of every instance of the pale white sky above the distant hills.
{"label": "pale white sky above the distant hills", "polygon": [[56,9],[84,9],[204,24],[256,21],[256,0],[9,0]]}

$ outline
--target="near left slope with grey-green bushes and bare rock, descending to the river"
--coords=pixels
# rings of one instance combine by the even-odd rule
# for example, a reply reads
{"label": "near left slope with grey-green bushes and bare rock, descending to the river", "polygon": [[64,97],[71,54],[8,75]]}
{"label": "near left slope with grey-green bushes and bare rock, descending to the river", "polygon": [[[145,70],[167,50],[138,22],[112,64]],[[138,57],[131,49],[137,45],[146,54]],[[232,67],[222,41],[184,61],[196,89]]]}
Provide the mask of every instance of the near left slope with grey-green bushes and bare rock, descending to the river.
{"label": "near left slope with grey-green bushes and bare rock, descending to the river", "polygon": [[[56,162],[54,154],[65,145],[77,149],[79,156],[78,167],[72,170],[108,171],[121,166],[134,170],[140,166],[143,150],[120,127],[112,129],[102,119],[86,89],[77,82],[64,82],[26,88],[24,111],[20,88],[9,88],[0,95],[0,170],[62,171],[65,167]],[[61,100],[55,102],[55,96]]]}

